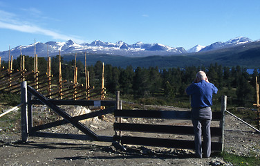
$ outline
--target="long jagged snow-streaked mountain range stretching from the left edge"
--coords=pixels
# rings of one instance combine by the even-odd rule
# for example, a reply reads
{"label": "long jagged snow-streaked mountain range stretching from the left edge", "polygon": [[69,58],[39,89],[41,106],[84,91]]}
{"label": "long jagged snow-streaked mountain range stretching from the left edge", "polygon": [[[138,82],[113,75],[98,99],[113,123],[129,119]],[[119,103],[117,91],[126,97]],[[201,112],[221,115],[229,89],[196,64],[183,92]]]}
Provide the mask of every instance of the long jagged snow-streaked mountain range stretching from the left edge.
{"label": "long jagged snow-streaked mountain range stretching from the left edge", "polygon": [[[39,57],[47,57],[47,51],[49,56],[58,55],[59,50],[61,54],[69,53],[96,53],[96,54],[109,54],[109,55],[124,55],[124,56],[149,56],[149,55],[176,55],[187,53],[184,48],[172,48],[163,44],[144,44],[137,42],[136,44],[127,44],[119,41],[116,43],[102,42],[95,40],[91,44],[77,44],[72,40],[67,42],[37,42],[28,46],[17,46],[10,50],[10,55],[16,59],[22,53],[23,55],[33,56],[35,53]],[[8,59],[9,50],[0,52],[0,56],[3,60]]]}

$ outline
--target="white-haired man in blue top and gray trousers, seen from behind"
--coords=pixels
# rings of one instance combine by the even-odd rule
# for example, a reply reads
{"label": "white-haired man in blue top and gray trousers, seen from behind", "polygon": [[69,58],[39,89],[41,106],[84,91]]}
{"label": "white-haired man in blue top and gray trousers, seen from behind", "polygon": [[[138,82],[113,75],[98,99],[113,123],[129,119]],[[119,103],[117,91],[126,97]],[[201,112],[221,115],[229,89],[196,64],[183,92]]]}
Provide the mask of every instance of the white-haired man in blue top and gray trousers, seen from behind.
{"label": "white-haired man in blue top and gray trousers, seen from behind", "polygon": [[[197,158],[208,158],[211,154],[210,122],[212,120],[212,95],[218,89],[207,80],[204,71],[198,71],[186,93],[192,95],[192,124],[194,127],[195,155]],[[203,149],[201,145],[201,129],[203,130]]]}

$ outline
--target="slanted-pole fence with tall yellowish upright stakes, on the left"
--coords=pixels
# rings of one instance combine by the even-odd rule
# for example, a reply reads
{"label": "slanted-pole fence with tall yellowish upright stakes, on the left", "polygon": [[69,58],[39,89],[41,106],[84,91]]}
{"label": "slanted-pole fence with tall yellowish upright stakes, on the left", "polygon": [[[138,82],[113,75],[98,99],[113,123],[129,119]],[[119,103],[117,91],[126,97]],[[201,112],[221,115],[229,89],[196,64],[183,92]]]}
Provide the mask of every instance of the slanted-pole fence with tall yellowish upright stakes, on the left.
{"label": "slanted-pole fence with tall yellowish upright stakes, on the left", "polygon": [[[0,91],[8,91],[10,93],[19,93],[21,82],[27,81],[28,85],[32,86],[36,91],[42,93],[47,98],[52,99],[73,99],[73,100],[104,100],[104,63],[102,66],[102,85],[101,89],[95,89],[89,85],[89,71],[86,70],[85,62],[85,86],[77,82],[77,67],[75,61],[73,82],[62,80],[62,64],[61,56],[59,55],[59,77],[54,78],[50,71],[50,57],[48,57],[48,68],[46,73],[38,71],[37,55],[35,55],[34,71],[26,71],[25,57],[21,57],[20,70],[12,69],[12,57],[8,63],[7,69],[1,68],[0,57]],[[104,109],[104,107],[102,107]]]}

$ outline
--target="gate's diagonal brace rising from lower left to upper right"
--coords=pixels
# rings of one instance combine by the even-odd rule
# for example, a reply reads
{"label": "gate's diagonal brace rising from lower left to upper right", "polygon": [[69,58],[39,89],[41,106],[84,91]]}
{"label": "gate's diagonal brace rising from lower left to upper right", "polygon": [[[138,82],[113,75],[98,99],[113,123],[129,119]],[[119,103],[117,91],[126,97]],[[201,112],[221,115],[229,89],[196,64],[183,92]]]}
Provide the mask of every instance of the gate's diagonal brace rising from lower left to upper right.
{"label": "gate's diagonal brace rising from lower left to upper right", "polygon": [[[86,113],[86,114],[81,115],[81,116],[73,117],[73,120],[84,120],[84,119],[88,119],[88,118],[94,118],[95,116],[102,116],[102,115],[106,115],[108,113],[113,113],[113,110],[114,110],[113,108],[108,108],[108,109],[103,109],[103,110],[100,110],[100,111]],[[67,120],[57,120],[55,122],[50,122],[50,123],[47,123],[47,124],[41,124],[39,126],[32,127],[32,132],[33,131],[39,131],[39,130],[42,130],[42,129],[48,129],[48,128],[51,128],[51,127],[57,127],[57,126],[62,125],[62,124],[68,124],[68,121]]]}

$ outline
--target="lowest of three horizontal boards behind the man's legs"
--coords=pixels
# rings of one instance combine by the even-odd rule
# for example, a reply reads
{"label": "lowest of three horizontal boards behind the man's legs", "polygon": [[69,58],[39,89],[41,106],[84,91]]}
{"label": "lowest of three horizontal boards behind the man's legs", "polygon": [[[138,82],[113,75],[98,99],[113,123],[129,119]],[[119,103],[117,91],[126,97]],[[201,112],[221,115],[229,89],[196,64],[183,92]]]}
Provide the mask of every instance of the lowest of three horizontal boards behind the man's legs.
{"label": "lowest of three horizontal boards behind the man's legs", "polygon": [[[172,140],[165,138],[145,138],[131,136],[114,136],[113,138],[116,141],[120,141],[121,144],[194,149],[193,140]],[[221,142],[212,142],[212,151],[221,151]]]}

